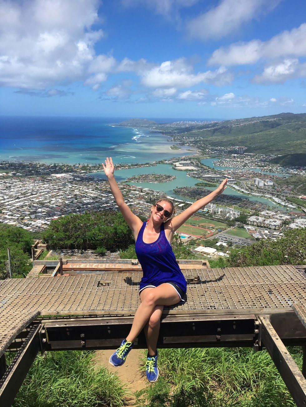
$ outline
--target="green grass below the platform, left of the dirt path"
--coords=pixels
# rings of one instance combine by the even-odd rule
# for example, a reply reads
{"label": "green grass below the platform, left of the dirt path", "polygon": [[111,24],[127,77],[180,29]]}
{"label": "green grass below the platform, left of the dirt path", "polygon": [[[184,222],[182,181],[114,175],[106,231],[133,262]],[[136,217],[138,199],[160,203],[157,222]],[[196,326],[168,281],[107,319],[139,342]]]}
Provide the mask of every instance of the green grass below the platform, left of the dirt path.
{"label": "green grass below the platform, left of the dirt path", "polygon": [[47,352],[37,356],[13,407],[120,407],[126,390],[117,375],[94,369],[94,353]]}

